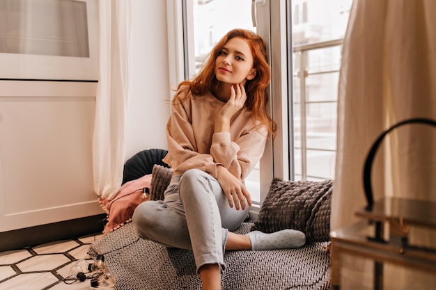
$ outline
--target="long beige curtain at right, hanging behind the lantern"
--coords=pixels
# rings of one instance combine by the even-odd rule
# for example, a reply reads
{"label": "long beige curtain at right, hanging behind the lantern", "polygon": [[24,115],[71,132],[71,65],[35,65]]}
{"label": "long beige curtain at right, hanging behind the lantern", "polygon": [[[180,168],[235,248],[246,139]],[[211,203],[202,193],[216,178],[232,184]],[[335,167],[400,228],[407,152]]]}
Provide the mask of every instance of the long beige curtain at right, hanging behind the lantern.
{"label": "long beige curtain at right, hanging behind the lantern", "polygon": [[[436,120],[436,1],[354,0],[338,94],[332,230],[357,221],[356,209],[366,205],[364,161],[377,136],[408,118]],[[410,124],[385,139],[373,164],[374,200],[436,201],[436,129]],[[417,234],[430,240],[428,231]],[[345,272],[345,280],[371,289],[362,275],[368,265],[349,262],[360,271]],[[426,289],[436,282],[420,280],[419,271],[412,277],[394,273],[385,289]]]}

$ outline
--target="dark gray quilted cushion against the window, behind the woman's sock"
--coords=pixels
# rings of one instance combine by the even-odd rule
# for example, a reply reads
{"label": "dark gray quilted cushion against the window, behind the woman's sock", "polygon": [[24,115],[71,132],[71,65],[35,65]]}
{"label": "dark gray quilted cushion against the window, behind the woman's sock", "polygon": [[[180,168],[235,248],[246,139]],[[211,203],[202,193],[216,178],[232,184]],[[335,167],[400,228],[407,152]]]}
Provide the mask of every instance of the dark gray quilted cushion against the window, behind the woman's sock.
{"label": "dark gray quilted cushion against the window, behind the woman's sock", "polygon": [[297,229],[308,242],[329,241],[333,181],[293,182],[274,179],[253,229]]}

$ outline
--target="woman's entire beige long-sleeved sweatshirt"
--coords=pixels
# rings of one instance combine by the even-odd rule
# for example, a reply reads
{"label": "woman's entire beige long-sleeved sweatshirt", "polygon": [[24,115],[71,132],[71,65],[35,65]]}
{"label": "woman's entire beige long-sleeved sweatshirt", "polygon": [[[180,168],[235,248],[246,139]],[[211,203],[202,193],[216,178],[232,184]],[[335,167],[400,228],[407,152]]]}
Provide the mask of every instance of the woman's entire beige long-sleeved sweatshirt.
{"label": "woman's entire beige long-sleeved sweatshirt", "polygon": [[263,155],[265,124],[255,124],[242,108],[231,118],[230,132],[214,134],[215,115],[224,106],[211,93],[173,102],[166,125],[168,154],[164,162],[175,175],[197,168],[217,177],[217,166],[227,168],[244,181]]}

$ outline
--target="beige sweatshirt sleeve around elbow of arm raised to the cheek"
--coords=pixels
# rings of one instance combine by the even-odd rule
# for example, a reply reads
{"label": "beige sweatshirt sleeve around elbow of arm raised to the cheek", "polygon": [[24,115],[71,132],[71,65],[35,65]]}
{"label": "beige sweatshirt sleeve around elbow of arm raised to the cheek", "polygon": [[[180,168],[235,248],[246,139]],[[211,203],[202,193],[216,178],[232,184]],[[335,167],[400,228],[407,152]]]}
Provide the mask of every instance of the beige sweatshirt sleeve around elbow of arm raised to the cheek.
{"label": "beige sweatshirt sleeve around elbow of arm raised to the cheek", "polygon": [[210,155],[235,177],[244,180],[262,157],[266,140],[267,129],[263,125],[249,129],[234,141],[229,132],[215,133]]}

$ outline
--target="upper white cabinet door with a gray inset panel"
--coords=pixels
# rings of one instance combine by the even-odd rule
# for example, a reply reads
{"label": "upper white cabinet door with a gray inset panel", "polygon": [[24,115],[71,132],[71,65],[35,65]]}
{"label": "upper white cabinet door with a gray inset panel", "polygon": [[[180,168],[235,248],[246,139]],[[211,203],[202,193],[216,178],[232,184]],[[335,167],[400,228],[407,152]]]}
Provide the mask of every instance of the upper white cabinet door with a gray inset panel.
{"label": "upper white cabinet door with a gray inset panel", "polygon": [[96,80],[98,0],[1,0],[0,78]]}

